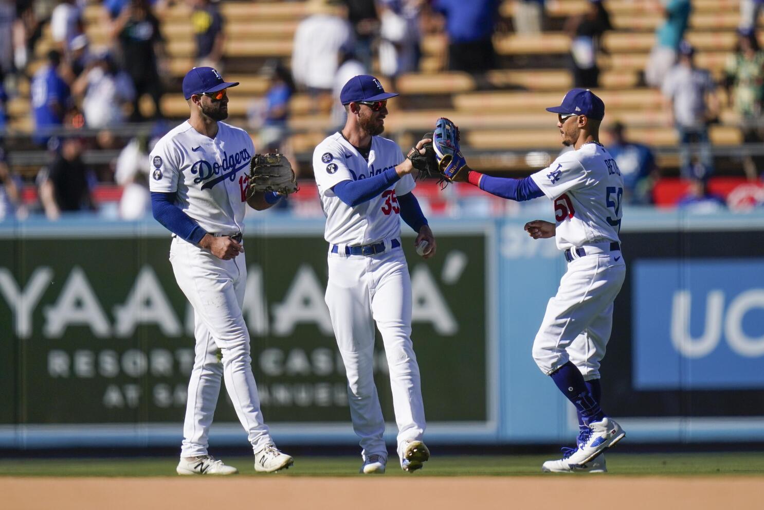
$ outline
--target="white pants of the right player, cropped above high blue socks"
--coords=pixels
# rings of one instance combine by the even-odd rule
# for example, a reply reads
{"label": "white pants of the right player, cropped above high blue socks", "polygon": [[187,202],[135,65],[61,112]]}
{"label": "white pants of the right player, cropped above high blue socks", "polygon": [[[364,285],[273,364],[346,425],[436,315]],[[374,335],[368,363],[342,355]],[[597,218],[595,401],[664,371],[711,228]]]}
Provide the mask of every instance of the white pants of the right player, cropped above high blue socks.
{"label": "white pants of the right player, cropped above high blue socks", "polygon": [[626,265],[620,251],[574,256],[557,295],[546,305],[533,359],[546,375],[570,360],[591,381],[600,378],[613,329],[613,300],[626,278]]}

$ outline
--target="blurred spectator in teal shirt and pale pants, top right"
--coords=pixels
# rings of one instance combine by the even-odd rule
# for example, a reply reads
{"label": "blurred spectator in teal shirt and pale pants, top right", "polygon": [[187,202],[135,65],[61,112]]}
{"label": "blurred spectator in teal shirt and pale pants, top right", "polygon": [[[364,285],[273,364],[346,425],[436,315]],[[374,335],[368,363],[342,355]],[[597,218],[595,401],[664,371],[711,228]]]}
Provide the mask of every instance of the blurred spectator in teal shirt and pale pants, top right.
{"label": "blurred spectator in teal shirt and pale pants, top right", "polygon": [[685,37],[692,5],[690,0],[654,0],[653,7],[662,13],[666,21],[656,31],[656,44],[652,47],[645,68],[645,83],[660,88],[676,62],[677,50]]}

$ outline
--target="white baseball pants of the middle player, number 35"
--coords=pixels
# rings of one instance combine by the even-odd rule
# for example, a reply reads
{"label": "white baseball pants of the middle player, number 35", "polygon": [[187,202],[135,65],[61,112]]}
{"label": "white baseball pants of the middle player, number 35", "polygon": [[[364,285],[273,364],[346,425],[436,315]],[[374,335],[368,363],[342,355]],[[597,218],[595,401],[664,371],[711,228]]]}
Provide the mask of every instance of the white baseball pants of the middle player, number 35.
{"label": "white baseball pants of the middle player, number 35", "polygon": [[382,335],[393,410],[398,425],[398,454],[404,440],[421,440],[425,411],[411,342],[411,279],[400,248],[380,255],[329,253],[326,305],[348,375],[348,401],[361,456],[387,458],[384,417],[374,385],[374,322]]}

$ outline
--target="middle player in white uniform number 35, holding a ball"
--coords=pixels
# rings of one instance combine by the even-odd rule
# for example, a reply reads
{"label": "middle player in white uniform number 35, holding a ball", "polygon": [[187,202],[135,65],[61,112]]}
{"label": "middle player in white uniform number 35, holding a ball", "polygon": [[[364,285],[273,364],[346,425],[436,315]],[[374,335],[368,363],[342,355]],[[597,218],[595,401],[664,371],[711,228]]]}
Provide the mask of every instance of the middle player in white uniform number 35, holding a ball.
{"label": "middle player in white uniform number 35, holding a ball", "polygon": [[[380,135],[386,93],[374,76],[354,76],[342,88],[348,112],[342,132],[313,152],[329,242],[326,304],[345,371],[355,433],[361,438],[361,473],[384,473],[384,418],[374,385],[374,322],[393,391],[400,466],[415,471],[429,459],[419,366],[411,341],[411,281],[400,241],[400,218],[415,232],[419,255],[435,255],[435,238],[412,190],[411,161]],[[424,154],[419,141],[416,150]]]}

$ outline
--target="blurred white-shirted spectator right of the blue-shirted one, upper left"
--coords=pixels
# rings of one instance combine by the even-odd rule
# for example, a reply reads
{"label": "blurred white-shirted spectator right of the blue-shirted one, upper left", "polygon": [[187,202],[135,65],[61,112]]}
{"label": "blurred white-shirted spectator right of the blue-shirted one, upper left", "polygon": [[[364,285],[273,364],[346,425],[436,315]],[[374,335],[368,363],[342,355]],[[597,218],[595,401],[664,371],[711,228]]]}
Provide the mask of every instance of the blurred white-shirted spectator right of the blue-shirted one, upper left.
{"label": "blurred white-shirted spectator right of the blue-shirted one, upper left", "polygon": [[125,107],[135,99],[130,76],[118,69],[107,51],[95,54],[85,72],[72,85],[72,93],[83,97],[85,125],[112,128],[125,122]]}

